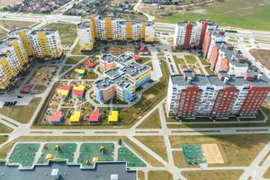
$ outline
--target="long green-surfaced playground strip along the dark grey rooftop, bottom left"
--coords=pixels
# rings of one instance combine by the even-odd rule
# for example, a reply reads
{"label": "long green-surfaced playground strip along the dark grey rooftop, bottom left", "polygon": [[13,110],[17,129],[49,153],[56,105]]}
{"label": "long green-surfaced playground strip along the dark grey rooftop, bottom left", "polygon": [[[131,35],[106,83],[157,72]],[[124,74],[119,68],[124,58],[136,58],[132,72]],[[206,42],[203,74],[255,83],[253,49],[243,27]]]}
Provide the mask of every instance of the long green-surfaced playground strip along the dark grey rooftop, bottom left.
{"label": "long green-surfaced playground strip along the dark grey rooftop, bottom left", "polygon": [[128,167],[147,166],[133,150],[116,141],[84,142],[18,142],[7,156],[7,165],[31,169],[34,165],[46,165],[51,161],[66,161],[67,164],[94,167],[94,163],[124,161]]}

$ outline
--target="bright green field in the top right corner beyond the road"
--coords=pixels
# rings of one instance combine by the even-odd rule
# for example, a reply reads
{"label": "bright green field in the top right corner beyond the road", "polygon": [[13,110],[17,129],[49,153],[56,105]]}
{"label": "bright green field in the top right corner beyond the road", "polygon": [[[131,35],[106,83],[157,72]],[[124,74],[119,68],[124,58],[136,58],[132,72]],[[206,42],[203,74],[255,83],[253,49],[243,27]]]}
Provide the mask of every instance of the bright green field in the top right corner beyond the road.
{"label": "bright green field in the top right corner beyond the road", "polygon": [[270,31],[270,2],[267,0],[226,0],[201,7],[195,12],[173,14],[157,21],[177,23],[186,20],[211,19],[220,26]]}

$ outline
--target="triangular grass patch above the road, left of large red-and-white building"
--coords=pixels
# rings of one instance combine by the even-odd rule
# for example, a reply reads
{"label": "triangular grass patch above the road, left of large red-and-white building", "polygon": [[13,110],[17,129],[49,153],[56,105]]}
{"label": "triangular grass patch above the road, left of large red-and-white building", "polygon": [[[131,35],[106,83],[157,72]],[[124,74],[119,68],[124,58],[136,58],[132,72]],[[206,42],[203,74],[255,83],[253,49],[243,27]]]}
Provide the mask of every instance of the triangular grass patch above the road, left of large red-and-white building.
{"label": "triangular grass patch above the road, left of large red-and-white building", "polygon": [[155,112],[152,112],[145,121],[142,121],[139,124],[137,128],[138,129],[160,129],[161,124],[160,124],[158,110],[156,110]]}

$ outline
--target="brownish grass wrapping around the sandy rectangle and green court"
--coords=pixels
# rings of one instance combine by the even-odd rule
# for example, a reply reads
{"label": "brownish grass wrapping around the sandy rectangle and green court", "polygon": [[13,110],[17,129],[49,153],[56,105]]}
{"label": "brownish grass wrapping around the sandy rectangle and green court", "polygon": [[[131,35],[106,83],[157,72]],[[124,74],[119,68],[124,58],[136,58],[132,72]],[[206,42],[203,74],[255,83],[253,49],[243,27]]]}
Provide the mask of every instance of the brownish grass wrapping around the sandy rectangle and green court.
{"label": "brownish grass wrapping around the sandy rectangle and green court", "polygon": [[269,140],[268,134],[170,137],[172,148],[190,143],[216,143],[225,163],[210,166],[248,166]]}

